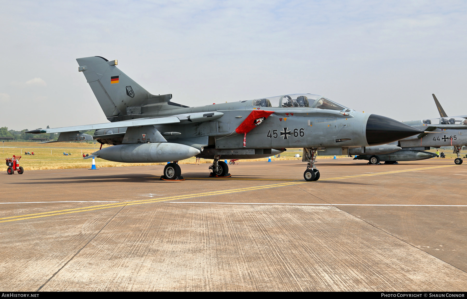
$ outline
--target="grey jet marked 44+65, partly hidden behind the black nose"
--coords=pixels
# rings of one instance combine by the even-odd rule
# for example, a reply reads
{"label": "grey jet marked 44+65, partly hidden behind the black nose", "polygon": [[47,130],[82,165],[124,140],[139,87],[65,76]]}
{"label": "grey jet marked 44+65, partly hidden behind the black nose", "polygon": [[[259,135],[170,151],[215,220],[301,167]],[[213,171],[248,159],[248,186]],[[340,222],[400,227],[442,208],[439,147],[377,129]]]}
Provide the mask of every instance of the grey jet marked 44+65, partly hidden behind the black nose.
{"label": "grey jet marked 44+65, partly hidden behind the black nose", "polygon": [[404,121],[404,124],[424,131],[416,136],[405,138],[390,145],[376,146],[399,147],[390,153],[359,153],[358,149],[349,150],[350,154],[356,154],[354,159],[368,160],[369,164],[378,164],[385,161],[385,164],[396,164],[397,161],[415,161],[436,157],[435,153],[425,152],[430,147],[453,146],[453,153],[457,154],[454,159],[455,164],[462,164],[460,149],[467,146],[467,115],[448,117],[438,99],[432,94],[440,118],[421,119]]}

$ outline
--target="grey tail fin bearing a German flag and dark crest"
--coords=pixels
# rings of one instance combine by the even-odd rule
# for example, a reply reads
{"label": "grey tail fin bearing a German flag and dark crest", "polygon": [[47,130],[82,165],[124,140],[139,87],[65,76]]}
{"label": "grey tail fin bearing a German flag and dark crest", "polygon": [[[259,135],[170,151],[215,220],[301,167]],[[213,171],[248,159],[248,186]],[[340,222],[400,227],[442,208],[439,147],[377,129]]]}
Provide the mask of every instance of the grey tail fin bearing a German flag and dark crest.
{"label": "grey tail fin bearing a German flag and dark crest", "polygon": [[83,72],[91,86],[100,107],[110,121],[134,114],[141,106],[150,103],[167,102],[170,97],[150,94],[142,86],[117,68],[117,61],[108,61],[104,57],[92,56],[77,58],[78,70]]}

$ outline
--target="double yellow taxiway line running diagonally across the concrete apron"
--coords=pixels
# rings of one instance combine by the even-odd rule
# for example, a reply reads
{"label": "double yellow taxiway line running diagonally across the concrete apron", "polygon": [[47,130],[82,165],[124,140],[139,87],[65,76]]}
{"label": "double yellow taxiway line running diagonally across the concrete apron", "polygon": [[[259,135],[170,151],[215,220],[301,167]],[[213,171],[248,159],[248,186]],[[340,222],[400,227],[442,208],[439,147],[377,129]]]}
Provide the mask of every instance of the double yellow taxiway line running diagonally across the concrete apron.
{"label": "double yellow taxiway line running diagonally across the concrete apron", "polygon": [[[427,169],[452,167],[452,166],[455,166],[455,165],[443,165],[443,166],[434,166],[434,167],[413,168],[413,169],[406,169],[406,170],[386,171],[386,172],[380,172],[380,173],[347,175],[347,176],[341,176],[341,177],[335,177],[335,178],[322,179],[321,181],[343,180],[343,179],[348,179],[348,178],[367,177],[367,176],[375,176],[375,175],[383,175],[383,174],[398,174],[398,173],[404,173],[404,172],[410,172],[410,171],[427,170]],[[100,209],[110,209],[110,208],[131,206],[131,205],[144,204],[144,203],[166,202],[166,201],[170,201],[170,200],[181,200],[181,199],[188,199],[188,198],[193,198],[193,197],[223,195],[223,194],[232,194],[232,193],[237,193],[237,192],[255,191],[255,190],[262,190],[262,189],[269,189],[269,188],[278,188],[278,187],[285,187],[285,186],[305,184],[305,183],[309,183],[309,182],[307,182],[307,181],[290,181],[290,182],[283,182],[283,183],[263,185],[263,186],[235,188],[235,189],[219,190],[219,191],[209,191],[209,192],[194,193],[194,194],[187,194],[187,195],[167,196],[167,197],[162,197],[162,198],[158,198],[158,199],[147,199],[147,200],[139,200],[139,201],[131,201],[131,202],[108,203],[108,204],[94,205],[94,206],[88,206],[88,207],[83,207],[83,208],[63,209],[63,210],[50,211],[50,212],[42,212],[42,213],[2,217],[2,218],[0,218],[0,223],[18,221],[18,220],[25,220],[25,219],[33,219],[33,218],[41,218],[41,217],[49,217],[49,216],[57,216],[57,215],[64,215],[64,214],[71,214],[71,213],[79,213],[79,212],[86,212],[86,211],[94,211],[94,210],[100,210]]]}

